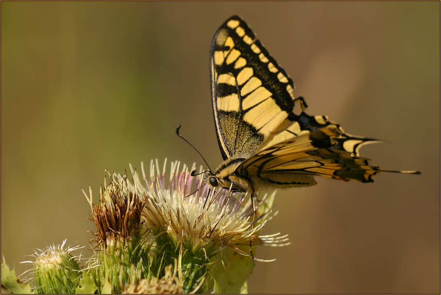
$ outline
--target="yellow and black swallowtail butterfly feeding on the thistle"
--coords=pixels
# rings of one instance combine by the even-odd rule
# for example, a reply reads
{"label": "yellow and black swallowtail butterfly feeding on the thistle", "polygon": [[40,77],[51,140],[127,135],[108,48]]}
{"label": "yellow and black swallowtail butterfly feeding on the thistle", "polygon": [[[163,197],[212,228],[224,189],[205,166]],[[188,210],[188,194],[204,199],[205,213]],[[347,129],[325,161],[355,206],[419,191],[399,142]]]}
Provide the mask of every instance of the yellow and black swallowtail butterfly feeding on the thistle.
{"label": "yellow and black swallowtail butterfly feeding on the thistle", "polygon": [[[238,193],[313,186],[315,176],[373,182],[382,170],[360,157],[379,140],[347,134],[326,116],[309,116],[294,84],[239,17],[227,19],[210,49],[213,115],[223,162],[203,183]],[[293,109],[299,105],[301,112]]]}

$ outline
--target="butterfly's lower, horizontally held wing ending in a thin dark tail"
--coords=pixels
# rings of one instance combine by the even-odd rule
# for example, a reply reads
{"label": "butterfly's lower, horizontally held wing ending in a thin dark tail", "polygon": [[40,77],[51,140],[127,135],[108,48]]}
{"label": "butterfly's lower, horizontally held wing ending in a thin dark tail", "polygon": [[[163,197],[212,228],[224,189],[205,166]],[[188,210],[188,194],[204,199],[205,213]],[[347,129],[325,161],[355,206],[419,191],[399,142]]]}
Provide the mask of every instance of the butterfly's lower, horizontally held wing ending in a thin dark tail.
{"label": "butterfly's lower, horizontally held wing ending in a thin dark tail", "polygon": [[338,125],[329,124],[252,155],[237,167],[236,173],[255,184],[282,187],[315,185],[315,175],[373,182],[374,176],[383,171],[419,174],[369,165],[369,159],[355,153],[359,144],[368,141],[348,136]]}

